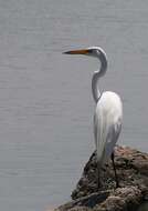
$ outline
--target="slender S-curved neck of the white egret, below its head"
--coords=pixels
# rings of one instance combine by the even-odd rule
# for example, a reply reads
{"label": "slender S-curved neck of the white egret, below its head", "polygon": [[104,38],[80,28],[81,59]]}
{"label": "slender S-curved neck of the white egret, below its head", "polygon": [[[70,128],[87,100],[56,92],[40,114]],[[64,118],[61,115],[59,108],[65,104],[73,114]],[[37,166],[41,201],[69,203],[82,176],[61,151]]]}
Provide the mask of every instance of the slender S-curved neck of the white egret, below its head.
{"label": "slender S-curved neck of the white egret, below its head", "polygon": [[101,69],[98,71],[95,71],[92,78],[92,92],[93,92],[93,98],[95,102],[101,98],[101,92],[98,89],[98,79],[103,77],[106,73],[107,70],[107,59],[104,53],[101,53],[99,57],[97,57],[101,61]]}

